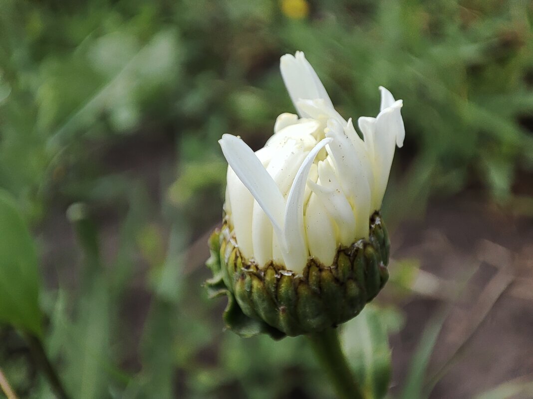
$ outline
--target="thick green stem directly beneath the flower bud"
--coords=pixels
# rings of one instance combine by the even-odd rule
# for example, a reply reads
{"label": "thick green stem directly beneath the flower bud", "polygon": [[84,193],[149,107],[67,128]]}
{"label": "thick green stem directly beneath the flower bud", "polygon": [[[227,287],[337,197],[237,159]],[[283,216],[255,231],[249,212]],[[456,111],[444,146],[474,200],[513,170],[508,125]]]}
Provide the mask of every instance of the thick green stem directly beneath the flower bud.
{"label": "thick green stem directly beneath the flower bud", "polygon": [[314,353],[325,369],[339,399],[366,399],[342,352],[337,330],[309,334]]}

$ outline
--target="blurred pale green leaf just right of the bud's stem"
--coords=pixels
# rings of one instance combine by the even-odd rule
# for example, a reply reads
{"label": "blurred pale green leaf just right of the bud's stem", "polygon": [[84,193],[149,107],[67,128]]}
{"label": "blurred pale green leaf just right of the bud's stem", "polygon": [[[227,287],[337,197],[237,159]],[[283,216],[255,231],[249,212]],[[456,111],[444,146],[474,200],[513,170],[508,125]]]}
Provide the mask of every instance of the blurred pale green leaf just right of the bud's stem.
{"label": "blurred pale green leaf just right of the bud's stem", "polygon": [[380,312],[366,305],[342,331],[344,351],[368,399],[383,398],[391,379],[391,350]]}

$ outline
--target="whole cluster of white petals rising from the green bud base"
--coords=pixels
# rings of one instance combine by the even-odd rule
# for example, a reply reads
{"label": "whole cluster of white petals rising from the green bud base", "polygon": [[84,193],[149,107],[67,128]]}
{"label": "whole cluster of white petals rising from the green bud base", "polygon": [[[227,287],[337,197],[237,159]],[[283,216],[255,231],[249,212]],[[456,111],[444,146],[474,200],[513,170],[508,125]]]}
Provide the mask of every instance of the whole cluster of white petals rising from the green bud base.
{"label": "whole cluster of white petals rising from the green bud base", "polygon": [[309,256],[328,265],[339,245],[368,237],[405,129],[402,101],[383,87],[377,117],[358,120],[361,139],[302,52],[282,56],[280,69],[299,117],[279,115],[274,135],[255,153],[239,137],[222,136],[225,211],[246,259],[300,273]]}

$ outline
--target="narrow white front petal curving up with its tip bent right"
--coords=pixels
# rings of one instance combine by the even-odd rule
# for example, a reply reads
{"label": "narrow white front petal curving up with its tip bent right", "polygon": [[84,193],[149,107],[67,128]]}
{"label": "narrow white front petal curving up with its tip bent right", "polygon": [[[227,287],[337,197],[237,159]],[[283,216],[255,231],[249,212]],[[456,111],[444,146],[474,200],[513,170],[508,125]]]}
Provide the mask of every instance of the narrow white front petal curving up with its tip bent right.
{"label": "narrow white front petal curving up with its tip bent right", "polygon": [[305,240],[305,229],[303,224],[303,201],[305,185],[313,164],[314,158],[320,150],[332,142],[332,139],[325,138],[309,152],[302,162],[300,169],[296,173],[293,185],[287,197],[284,223],[284,260],[287,269],[303,268],[309,256],[309,249]]}

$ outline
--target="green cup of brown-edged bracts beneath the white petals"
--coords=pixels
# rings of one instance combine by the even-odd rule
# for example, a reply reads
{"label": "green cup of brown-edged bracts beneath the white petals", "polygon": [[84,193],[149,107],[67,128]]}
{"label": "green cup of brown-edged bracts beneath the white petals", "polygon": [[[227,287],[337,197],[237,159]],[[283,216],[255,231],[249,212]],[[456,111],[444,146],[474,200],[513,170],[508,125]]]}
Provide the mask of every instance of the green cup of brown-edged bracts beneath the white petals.
{"label": "green cup of brown-edged bracts beneath the white petals", "polygon": [[206,282],[212,297],[227,295],[223,319],[240,336],[265,333],[279,339],[319,332],[355,317],[389,278],[389,237],[381,215],[370,218],[370,235],[340,246],[333,264],[309,258],[302,275],[273,262],[257,267],[240,254],[228,218],[209,240]]}

